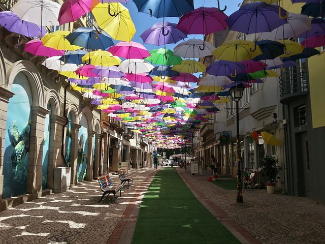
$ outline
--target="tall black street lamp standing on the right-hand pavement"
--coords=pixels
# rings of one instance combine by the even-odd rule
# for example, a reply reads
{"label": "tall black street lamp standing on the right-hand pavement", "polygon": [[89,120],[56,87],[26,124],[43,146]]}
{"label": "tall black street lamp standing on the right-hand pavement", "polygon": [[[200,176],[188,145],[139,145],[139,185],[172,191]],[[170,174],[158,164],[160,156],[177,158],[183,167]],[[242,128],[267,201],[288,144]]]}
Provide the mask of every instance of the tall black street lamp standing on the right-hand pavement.
{"label": "tall black street lamp standing on the right-hand pavement", "polygon": [[242,173],[240,170],[240,145],[239,145],[239,101],[243,97],[244,89],[246,87],[243,83],[232,86],[230,88],[230,93],[232,100],[236,102],[236,133],[237,133],[237,199],[236,202],[243,202],[242,196]]}

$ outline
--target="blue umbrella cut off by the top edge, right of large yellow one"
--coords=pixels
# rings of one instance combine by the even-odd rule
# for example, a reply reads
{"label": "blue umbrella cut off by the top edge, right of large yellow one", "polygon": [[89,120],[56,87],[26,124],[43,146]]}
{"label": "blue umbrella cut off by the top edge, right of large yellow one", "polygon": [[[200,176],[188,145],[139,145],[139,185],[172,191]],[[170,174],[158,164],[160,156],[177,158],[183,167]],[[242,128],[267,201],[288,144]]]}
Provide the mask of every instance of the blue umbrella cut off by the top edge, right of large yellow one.
{"label": "blue umbrella cut off by the top edge, right of large yellow one", "polygon": [[180,17],[194,9],[193,0],[134,0],[139,12],[156,18]]}

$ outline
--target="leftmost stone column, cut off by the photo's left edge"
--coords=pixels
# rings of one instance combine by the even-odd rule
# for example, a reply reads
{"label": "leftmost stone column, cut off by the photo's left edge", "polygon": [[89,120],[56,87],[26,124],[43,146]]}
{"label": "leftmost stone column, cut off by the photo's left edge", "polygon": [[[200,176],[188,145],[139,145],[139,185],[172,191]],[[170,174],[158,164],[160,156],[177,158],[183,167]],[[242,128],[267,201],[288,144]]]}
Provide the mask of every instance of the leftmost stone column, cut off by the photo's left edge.
{"label": "leftmost stone column, cut off by the photo's left edge", "polygon": [[2,199],[2,191],[4,188],[4,154],[5,154],[5,135],[7,124],[7,111],[9,99],[14,96],[14,93],[10,92],[0,86],[0,200]]}

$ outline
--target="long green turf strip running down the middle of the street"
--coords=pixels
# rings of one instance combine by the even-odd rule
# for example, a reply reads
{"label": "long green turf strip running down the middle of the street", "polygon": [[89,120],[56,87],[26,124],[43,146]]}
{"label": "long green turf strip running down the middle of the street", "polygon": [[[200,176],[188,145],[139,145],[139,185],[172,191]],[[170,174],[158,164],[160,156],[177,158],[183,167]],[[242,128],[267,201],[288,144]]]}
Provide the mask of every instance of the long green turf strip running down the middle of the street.
{"label": "long green turf strip running down the middle of the street", "polygon": [[175,168],[163,168],[143,198],[132,243],[240,242],[194,197]]}

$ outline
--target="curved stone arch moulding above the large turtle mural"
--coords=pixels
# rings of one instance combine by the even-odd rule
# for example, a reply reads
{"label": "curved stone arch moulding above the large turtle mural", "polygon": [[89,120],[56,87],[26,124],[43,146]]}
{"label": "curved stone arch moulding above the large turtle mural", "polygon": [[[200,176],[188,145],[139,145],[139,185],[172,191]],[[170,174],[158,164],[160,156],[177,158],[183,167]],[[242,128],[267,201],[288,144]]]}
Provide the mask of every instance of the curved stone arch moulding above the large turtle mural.
{"label": "curved stone arch moulding above the large turtle mural", "polygon": [[29,81],[32,92],[32,105],[44,107],[44,87],[41,75],[37,68],[28,60],[19,60],[9,68],[8,89],[11,90],[11,85],[19,72],[23,72]]}

